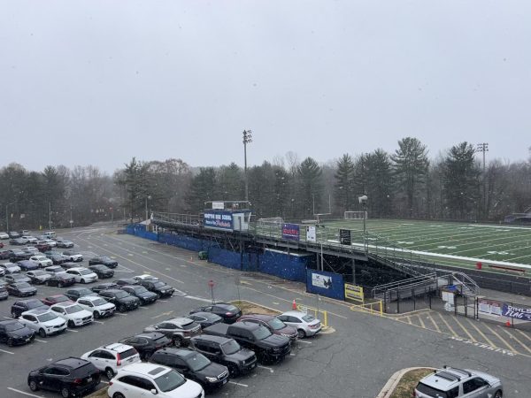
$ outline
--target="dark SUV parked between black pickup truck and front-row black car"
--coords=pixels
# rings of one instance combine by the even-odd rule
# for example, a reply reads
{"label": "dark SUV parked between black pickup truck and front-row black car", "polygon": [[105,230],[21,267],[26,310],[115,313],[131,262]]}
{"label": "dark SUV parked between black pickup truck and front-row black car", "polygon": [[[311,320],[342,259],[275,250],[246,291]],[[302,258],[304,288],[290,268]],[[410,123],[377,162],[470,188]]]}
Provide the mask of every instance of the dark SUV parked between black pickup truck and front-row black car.
{"label": "dark SUV parked between black pickup truck and front-row black car", "polygon": [[192,337],[190,348],[213,362],[227,366],[231,376],[250,373],[258,364],[254,351],[242,348],[237,341],[226,337],[201,334]]}

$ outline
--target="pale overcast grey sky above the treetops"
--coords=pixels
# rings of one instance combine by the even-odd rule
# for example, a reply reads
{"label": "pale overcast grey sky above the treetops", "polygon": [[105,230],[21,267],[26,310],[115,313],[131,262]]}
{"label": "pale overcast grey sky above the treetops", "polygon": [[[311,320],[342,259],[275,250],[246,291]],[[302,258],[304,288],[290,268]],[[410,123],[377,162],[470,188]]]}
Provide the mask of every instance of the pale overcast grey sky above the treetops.
{"label": "pale overcast grey sky above the treetops", "polygon": [[529,155],[527,0],[0,4],[0,166]]}

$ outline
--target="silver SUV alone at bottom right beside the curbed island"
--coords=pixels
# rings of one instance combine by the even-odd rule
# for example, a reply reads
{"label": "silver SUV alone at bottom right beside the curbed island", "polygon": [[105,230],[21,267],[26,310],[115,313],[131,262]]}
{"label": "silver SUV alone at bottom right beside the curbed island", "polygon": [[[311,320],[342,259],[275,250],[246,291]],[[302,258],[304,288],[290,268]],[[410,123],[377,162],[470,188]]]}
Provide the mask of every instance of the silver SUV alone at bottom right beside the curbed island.
{"label": "silver SUV alone at bottom right beside the curbed island", "polygon": [[434,371],[420,379],[414,398],[466,396],[466,398],[502,398],[504,387],[500,379],[482,371],[451,368]]}

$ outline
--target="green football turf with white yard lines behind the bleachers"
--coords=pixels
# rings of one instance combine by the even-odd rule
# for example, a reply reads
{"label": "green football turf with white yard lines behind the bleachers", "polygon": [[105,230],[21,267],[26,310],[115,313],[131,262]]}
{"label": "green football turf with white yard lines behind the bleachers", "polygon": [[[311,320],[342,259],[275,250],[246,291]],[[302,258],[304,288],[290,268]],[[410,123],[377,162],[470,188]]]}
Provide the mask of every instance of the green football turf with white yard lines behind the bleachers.
{"label": "green football turf with white yard lines behind the bleachers", "polygon": [[[363,220],[330,220],[322,224],[363,231]],[[369,251],[387,242],[430,263],[475,267],[481,262],[486,268],[490,265],[492,271],[512,266],[531,268],[531,228],[526,226],[367,219],[366,231]]]}

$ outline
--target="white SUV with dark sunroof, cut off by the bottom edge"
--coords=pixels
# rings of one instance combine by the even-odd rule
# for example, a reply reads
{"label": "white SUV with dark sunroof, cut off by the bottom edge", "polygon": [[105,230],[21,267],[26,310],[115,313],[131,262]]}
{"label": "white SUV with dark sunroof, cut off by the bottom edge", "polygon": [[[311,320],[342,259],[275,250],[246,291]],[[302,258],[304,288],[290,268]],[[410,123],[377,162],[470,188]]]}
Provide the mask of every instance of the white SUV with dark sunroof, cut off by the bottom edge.
{"label": "white SUV with dark sunroof, cut off by the bottom edge", "polygon": [[184,379],[172,368],[159,364],[130,364],[109,382],[107,394],[127,398],[204,398],[204,390],[195,381]]}

